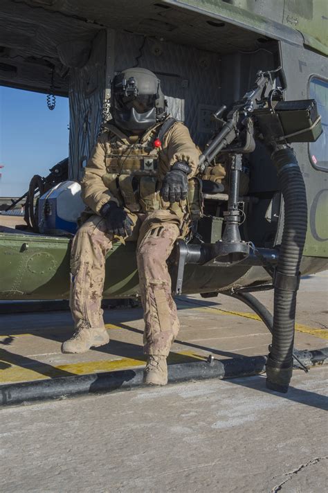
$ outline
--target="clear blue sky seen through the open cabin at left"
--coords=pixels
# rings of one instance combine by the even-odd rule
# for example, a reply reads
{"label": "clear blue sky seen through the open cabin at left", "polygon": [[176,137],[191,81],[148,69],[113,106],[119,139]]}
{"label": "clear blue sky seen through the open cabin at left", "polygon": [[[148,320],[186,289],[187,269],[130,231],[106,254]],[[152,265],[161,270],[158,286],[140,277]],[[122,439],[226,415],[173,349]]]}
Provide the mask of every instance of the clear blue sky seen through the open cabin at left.
{"label": "clear blue sky seen through the open cabin at left", "polygon": [[69,155],[68,125],[68,98],[50,111],[46,94],[0,86],[0,197],[23,195],[33,174],[45,177]]}

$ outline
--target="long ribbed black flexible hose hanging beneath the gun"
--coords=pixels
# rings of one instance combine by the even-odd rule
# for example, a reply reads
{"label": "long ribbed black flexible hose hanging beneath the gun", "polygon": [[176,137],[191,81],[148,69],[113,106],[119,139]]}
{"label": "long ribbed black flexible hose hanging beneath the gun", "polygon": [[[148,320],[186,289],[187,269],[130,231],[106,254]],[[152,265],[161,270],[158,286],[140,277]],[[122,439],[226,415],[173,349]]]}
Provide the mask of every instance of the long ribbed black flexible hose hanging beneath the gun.
{"label": "long ribbed black flexible hose hanging beneath the gun", "polygon": [[271,159],[284,197],[284,231],[275,272],[273,339],[266,364],[266,386],[286,392],[293,371],[296,294],[307,234],[307,195],[293,150],[277,150]]}

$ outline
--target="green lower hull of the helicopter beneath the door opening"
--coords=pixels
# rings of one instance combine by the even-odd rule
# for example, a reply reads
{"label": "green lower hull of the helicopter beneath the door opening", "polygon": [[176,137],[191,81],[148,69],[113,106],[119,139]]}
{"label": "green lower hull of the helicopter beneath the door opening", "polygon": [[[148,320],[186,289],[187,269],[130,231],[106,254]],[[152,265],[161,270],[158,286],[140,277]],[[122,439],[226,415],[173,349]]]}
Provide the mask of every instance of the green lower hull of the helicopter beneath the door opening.
{"label": "green lower hull of the helicopter beneath the door opening", "polygon": [[[67,238],[0,233],[0,299],[68,299],[69,252]],[[325,258],[304,257],[302,262],[302,274],[326,268]],[[227,269],[186,265],[183,294],[224,291],[234,285],[247,286],[268,280],[268,274],[261,267],[235,265]],[[136,243],[116,243],[107,255],[103,296],[131,298],[136,295]]]}

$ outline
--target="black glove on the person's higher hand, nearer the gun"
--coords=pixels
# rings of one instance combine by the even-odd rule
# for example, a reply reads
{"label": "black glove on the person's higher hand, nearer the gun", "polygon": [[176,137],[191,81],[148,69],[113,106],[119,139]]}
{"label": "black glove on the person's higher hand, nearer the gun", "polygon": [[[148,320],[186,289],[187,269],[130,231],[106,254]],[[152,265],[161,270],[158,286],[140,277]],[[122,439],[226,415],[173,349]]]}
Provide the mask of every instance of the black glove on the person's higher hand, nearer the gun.
{"label": "black glove on the person's higher hand, nearer the gun", "polygon": [[187,198],[188,174],[191,172],[190,165],[185,161],[176,161],[163,179],[161,196],[165,202],[179,202]]}

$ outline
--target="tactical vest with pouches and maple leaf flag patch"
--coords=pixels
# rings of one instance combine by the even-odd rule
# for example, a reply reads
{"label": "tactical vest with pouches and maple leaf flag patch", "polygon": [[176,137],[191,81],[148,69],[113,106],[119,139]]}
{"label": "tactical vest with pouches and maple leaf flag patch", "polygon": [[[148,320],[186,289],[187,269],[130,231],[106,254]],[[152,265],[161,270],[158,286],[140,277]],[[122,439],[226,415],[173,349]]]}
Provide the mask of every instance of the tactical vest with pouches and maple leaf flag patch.
{"label": "tactical vest with pouches and maple leaf flag patch", "polygon": [[154,147],[161,127],[157,125],[147,139],[140,142],[137,137],[135,142],[132,138],[128,140],[127,136],[112,125],[107,125],[107,129],[106,173],[102,176],[102,181],[111,195],[118,199],[120,206],[128,208],[132,213],[152,213],[165,209],[176,214],[179,219],[200,217],[201,186],[197,178],[189,180],[186,200],[170,204],[163,201],[159,194],[161,182],[167,172],[161,149]]}

